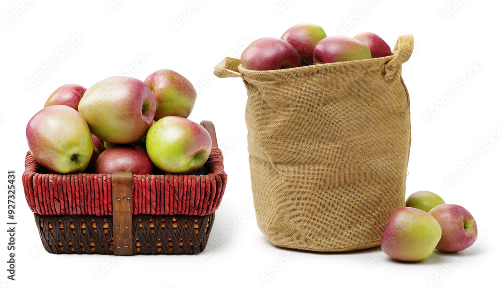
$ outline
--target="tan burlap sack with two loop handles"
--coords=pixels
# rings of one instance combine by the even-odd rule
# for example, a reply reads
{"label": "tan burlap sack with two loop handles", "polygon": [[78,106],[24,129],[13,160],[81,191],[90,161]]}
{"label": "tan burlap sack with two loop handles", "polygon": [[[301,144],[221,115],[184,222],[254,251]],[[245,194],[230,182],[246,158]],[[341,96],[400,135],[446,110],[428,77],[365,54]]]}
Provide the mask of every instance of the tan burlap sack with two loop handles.
{"label": "tan burlap sack with two loop handles", "polygon": [[380,245],[405,205],[410,99],[392,56],[252,71],[225,58],[218,77],[241,77],[257,222],[275,245],[351,251]]}

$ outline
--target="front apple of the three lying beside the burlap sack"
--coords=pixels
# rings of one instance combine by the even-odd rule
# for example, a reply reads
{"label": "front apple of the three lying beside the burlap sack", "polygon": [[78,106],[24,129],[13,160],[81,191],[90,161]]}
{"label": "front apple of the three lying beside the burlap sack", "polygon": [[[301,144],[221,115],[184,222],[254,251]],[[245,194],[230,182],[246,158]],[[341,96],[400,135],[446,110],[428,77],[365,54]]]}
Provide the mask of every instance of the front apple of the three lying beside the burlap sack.
{"label": "front apple of the three lying beside the burlap sack", "polygon": [[441,239],[441,226],[429,213],[412,207],[395,210],[389,216],[381,238],[382,250],[407,262],[427,259]]}

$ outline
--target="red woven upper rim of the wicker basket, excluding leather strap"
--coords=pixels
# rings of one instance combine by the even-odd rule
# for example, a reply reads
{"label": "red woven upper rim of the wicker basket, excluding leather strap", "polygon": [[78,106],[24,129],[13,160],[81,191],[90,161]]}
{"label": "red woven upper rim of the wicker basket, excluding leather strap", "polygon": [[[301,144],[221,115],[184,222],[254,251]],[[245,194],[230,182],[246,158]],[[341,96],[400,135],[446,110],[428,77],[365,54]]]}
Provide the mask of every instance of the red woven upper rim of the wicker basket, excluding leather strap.
{"label": "red woven upper rim of the wicker basket, excluding leather strap", "polygon": [[[134,175],[133,214],[214,213],[227,175],[221,150],[213,147],[203,175]],[[30,209],[40,215],[111,215],[111,174],[46,174],[27,153],[23,187]]]}

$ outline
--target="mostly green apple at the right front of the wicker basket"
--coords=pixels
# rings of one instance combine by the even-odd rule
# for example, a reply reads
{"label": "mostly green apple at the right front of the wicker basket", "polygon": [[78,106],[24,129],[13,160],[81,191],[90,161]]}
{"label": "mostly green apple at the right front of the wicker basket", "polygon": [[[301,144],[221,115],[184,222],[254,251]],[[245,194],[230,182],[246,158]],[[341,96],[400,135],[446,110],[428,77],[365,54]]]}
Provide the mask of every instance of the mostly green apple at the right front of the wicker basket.
{"label": "mostly green apple at the right front of the wicker basket", "polygon": [[211,136],[187,118],[166,116],[148,130],[147,152],[154,165],[166,173],[192,173],[209,158]]}

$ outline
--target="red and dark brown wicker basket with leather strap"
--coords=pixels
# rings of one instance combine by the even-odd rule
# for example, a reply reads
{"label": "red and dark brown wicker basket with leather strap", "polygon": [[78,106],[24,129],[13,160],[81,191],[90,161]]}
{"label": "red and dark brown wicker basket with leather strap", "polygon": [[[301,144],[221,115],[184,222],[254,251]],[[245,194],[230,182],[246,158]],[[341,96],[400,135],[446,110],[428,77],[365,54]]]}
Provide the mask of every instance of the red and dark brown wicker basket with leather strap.
{"label": "red and dark brown wicker basket with leather strap", "polygon": [[201,125],[212,149],[193,175],[57,175],[28,152],[23,186],[45,249],[115,255],[204,250],[227,175],[213,124]]}

